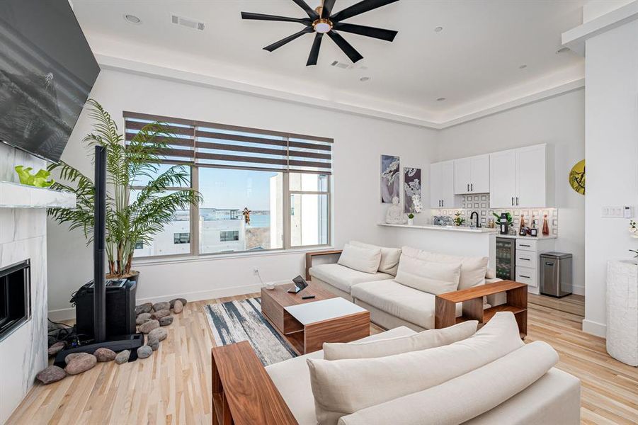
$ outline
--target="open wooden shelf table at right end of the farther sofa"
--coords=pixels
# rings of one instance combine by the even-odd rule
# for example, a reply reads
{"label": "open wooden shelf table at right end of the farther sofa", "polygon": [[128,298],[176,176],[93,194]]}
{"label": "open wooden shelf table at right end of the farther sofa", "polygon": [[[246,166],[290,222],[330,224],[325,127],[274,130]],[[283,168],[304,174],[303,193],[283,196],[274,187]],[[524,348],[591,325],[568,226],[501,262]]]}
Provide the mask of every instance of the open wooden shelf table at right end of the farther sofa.
{"label": "open wooden shelf table at right end of the farther sofa", "polygon": [[[484,296],[503,292],[507,295],[505,304],[483,310]],[[456,317],[457,302],[463,303],[461,317]],[[525,339],[528,334],[528,285],[513,280],[503,280],[436,295],[434,327],[440,329],[467,320],[478,320],[481,327],[497,312],[513,312],[518,323],[520,338]]]}

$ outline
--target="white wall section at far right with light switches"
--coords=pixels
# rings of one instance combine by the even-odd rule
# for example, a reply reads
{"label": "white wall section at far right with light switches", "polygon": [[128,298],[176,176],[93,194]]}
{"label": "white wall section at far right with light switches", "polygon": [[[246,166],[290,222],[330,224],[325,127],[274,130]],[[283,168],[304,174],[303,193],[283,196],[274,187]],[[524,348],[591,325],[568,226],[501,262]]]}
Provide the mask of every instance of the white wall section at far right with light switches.
{"label": "white wall section at far right with light switches", "polygon": [[[606,264],[637,249],[628,220],[604,205],[638,205],[638,21],[586,41],[586,298],[583,330],[605,336]],[[560,230],[559,230],[560,231]]]}

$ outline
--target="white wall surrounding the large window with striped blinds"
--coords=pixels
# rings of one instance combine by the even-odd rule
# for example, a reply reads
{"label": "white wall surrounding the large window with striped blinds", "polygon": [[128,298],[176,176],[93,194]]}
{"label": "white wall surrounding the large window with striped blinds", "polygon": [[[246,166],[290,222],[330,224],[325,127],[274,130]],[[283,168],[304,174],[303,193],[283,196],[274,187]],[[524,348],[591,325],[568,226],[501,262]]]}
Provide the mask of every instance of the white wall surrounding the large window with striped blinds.
{"label": "white wall surrounding the large window with striped blinds", "polygon": [[[334,138],[334,246],[348,239],[383,242],[376,225],[387,208],[380,203],[381,154],[398,155],[401,166],[421,167],[428,176],[437,152],[433,130],[113,70],[101,72],[91,96],[120,125],[122,111],[137,111]],[[92,176],[81,143],[90,129],[83,113],[62,159]],[[423,197],[429,198],[427,185]],[[50,310],[61,310],[52,317],[69,317],[71,293],[91,279],[91,249],[66,225],[50,222],[48,232]],[[302,273],[303,254],[161,261],[152,266],[138,262],[135,268],[142,275],[137,298],[205,299],[246,293],[257,288],[255,267],[265,281],[287,280]]]}

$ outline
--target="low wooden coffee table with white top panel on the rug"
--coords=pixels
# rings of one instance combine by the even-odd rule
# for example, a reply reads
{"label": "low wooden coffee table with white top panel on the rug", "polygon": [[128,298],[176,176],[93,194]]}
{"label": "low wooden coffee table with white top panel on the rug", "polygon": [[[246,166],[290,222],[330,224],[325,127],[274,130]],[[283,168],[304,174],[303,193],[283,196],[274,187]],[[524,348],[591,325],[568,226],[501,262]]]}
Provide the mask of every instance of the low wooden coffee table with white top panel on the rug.
{"label": "low wooden coffee table with white top panel on the rug", "polygon": [[[324,342],[351,342],[370,335],[370,312],[328,290],[310,285],[300,293],[287,293],[292,282],[261,288],[261,312],[295,351],[321,350]],[[315,295],[303,300],[302,296]]]}

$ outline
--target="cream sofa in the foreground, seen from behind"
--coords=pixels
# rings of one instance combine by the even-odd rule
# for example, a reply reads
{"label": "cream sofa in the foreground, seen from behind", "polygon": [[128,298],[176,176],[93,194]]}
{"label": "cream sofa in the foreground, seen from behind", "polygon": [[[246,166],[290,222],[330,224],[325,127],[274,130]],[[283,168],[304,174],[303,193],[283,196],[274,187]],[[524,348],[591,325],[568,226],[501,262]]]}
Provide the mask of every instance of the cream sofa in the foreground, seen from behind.
{"label": "cream sofa in the foreground, seen from behind", "polygon": [[[389,339],[396,346],[414,335],[397,327],[343,345]],[[580,422],[580,381],[553,367],[558,355],[549,345],[523,344],[511,313],[496,314],[467,339],[413,350],[346,360],[316,351],[266,366],[266,372],[300,425]],[[330,412],[335,404],[343,410]]]}

